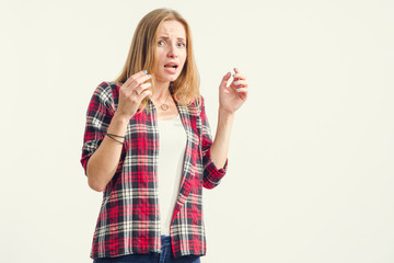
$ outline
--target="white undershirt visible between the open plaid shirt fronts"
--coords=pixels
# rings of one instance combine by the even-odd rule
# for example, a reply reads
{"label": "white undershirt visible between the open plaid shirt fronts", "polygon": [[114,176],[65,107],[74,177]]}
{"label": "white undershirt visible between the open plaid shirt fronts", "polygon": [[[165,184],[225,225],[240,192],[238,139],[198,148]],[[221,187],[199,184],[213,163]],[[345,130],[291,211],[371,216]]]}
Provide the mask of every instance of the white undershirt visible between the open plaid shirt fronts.
{"label": "white undershirt visible between the open plaid shirt fronts", "polygon": [[158,121],[159,147],[159,205],[162,235],[170,236],[170,224],[183,171],[186,149],[186,132],[179,115],[172,119]]}

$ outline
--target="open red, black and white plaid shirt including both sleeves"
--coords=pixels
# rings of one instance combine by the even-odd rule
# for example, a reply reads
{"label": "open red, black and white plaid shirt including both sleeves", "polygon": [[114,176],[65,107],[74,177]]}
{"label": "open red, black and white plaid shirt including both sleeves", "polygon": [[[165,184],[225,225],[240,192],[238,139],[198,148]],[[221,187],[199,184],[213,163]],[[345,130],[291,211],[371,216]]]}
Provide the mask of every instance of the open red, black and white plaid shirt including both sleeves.
{"label": "open red, black and white plaid shirt including both sleeves", "polygon": [[[103,140],[116,111],[119,84],[102,82],[89,104],[81,163],[86,171],[89,158]],[[227,171],[210,159],[210,128],[201,106],[176,103],[187,135],[184,170],[173,211],[170,235],[174,256],[206,254],[202,219],[202,186],[213,188]],[[196,102],[192,104],[195,106]],[[91,258],[161,252],[161,225],[158,201],[159,129],[157,111],[147,108],[128,123],[118,168],[103,193]]]}

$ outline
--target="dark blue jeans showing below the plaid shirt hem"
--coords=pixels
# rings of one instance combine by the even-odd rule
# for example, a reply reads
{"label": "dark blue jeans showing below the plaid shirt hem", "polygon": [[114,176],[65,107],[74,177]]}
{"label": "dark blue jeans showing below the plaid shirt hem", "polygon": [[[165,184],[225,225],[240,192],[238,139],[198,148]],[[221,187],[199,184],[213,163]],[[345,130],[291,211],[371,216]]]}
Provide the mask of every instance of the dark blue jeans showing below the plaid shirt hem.
{"label": "dark blue jeans showing below the plaid shirt hem", "polygon": [[199,255],[184,255],[174,259],[170,236],[162,236],[161,241],[161,253],[128,254],[117,258],[102,258],[94,260],[93,263],[200,263]]}

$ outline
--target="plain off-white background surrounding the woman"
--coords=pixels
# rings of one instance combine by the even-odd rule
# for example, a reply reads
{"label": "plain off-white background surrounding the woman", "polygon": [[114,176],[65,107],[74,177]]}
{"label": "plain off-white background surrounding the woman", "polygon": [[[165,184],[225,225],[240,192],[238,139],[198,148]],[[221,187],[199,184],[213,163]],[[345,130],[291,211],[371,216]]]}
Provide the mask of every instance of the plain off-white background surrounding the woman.
{"label": "plain off-white background surrounding the woman", "polygon": [[1,1],[0,261],[91,262],[88,103],[162,7],[192,26],[213,132],[222,76],[250,82],[202,262],[394,262],[391,0]]}

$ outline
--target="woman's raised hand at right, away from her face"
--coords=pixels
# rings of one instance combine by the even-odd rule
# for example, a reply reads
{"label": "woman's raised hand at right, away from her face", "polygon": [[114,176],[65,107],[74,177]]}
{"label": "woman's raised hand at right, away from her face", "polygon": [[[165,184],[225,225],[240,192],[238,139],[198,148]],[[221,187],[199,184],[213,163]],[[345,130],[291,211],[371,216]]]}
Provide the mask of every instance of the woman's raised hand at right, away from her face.
{"label": "woman's raised hand at right, away from her face", "polygon": [[234,68],[234,79],[228,87],[228,81],[231,77],[231,72],[224,75],[222,82],[219,87],[219,105],[221,110],[224,110],[229,114],[235,113],[247,98],[247,82],[245,76],[240,70]]}

